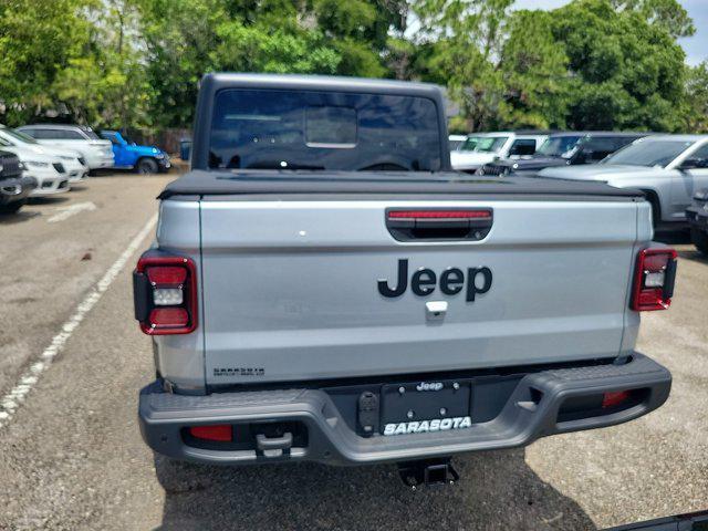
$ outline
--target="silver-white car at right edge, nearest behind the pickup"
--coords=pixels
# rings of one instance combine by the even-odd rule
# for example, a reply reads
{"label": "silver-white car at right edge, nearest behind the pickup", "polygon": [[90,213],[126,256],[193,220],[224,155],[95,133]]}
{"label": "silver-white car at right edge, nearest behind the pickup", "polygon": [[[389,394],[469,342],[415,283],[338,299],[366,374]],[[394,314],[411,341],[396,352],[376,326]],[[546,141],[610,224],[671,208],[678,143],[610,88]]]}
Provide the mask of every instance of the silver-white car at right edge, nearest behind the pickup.
{"label": "silver-white car at right edge, nearest behind the pickup", "polygon": [[652,204],[655,226],[685,225],[694,194],[708,188],[708,135],[647,136],[597,165],[545,168],[539,176],[638,188]]}

